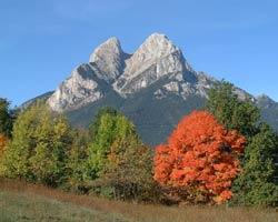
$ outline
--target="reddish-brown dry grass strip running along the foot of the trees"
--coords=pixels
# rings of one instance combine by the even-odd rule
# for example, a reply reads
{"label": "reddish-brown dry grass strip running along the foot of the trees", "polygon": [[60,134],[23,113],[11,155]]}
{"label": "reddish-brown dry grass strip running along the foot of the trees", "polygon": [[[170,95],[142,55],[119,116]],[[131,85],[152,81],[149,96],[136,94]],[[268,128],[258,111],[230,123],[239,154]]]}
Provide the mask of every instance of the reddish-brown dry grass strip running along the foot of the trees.
{"label": "reddish-brown dry grass strip running along the foot of the trees", "polygon": [[103,214],[116,213],[133,222],[278,222],[274,209],[225,208],[225,206],[161,206],[108,201],[96,196],[76,195],[41,185],[19,181],[0,181],[0,190],[30,193],[93,209]]}

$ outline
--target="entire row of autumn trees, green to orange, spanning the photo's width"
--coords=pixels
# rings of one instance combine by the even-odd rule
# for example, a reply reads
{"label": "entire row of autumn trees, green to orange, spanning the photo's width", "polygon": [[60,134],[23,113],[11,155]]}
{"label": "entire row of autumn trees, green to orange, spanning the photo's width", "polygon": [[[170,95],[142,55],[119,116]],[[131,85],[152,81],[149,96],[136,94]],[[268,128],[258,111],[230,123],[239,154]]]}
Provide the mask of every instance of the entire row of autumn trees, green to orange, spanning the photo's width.
{"label": "entire row of autumn trees, green to orange, spanning the photo's width", "polygon": [[14,112],[0,100],[0,175],[82,194],[277,206],[277,134],[227,82],[211,89],[207,107],[185,117],[155,149],[110,108],[82,130],[42,101]]}

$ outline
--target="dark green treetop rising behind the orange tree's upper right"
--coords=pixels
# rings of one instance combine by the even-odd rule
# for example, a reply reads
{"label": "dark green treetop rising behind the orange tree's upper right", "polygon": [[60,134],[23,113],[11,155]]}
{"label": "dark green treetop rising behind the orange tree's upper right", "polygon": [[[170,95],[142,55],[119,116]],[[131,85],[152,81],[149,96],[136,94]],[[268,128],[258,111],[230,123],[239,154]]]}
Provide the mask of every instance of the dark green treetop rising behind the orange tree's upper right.
{"label": "dark green treetop rising behind the orange tree's upper right", "polygon": [[228,130],[237,130],[249,138],[257,133],[260,111],[250,99],[239,100],[235,87],[226,81],[209,91],[206,110]]}

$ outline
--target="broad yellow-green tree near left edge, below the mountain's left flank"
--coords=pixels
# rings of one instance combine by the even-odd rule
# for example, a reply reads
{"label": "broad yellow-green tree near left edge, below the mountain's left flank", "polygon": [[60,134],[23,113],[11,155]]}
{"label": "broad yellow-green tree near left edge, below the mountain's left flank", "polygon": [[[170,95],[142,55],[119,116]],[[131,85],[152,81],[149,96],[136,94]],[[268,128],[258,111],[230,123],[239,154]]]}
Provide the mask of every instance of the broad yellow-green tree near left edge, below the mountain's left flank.
{"label": "broad yellow-green tree near left edge, below the mountain's left flank", "polygon": [[67,120],[61,115],[53,117],[46,104],[37,102],[22,111],[14,123],[13,138],[4,154],[6,174],[59,185],[64,178],[66,153],[70,144]]}

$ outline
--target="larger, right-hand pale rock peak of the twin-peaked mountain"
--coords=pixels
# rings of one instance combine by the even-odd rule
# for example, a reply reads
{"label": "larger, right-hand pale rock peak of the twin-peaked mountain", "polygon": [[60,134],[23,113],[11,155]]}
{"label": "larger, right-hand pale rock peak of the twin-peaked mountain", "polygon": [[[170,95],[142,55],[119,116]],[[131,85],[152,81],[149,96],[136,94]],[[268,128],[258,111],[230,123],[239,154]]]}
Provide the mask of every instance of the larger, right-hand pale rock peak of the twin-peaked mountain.
{"label": "larger, right-hand pale rock peak of the twin-peaked mountain", "polygon": [[175,75],[182,81],[189,67],[178,47],[165,34],[153,33],[126,60],[123,74],[115,82],[113,88],[126,95],[147,88],[166,75]]}

